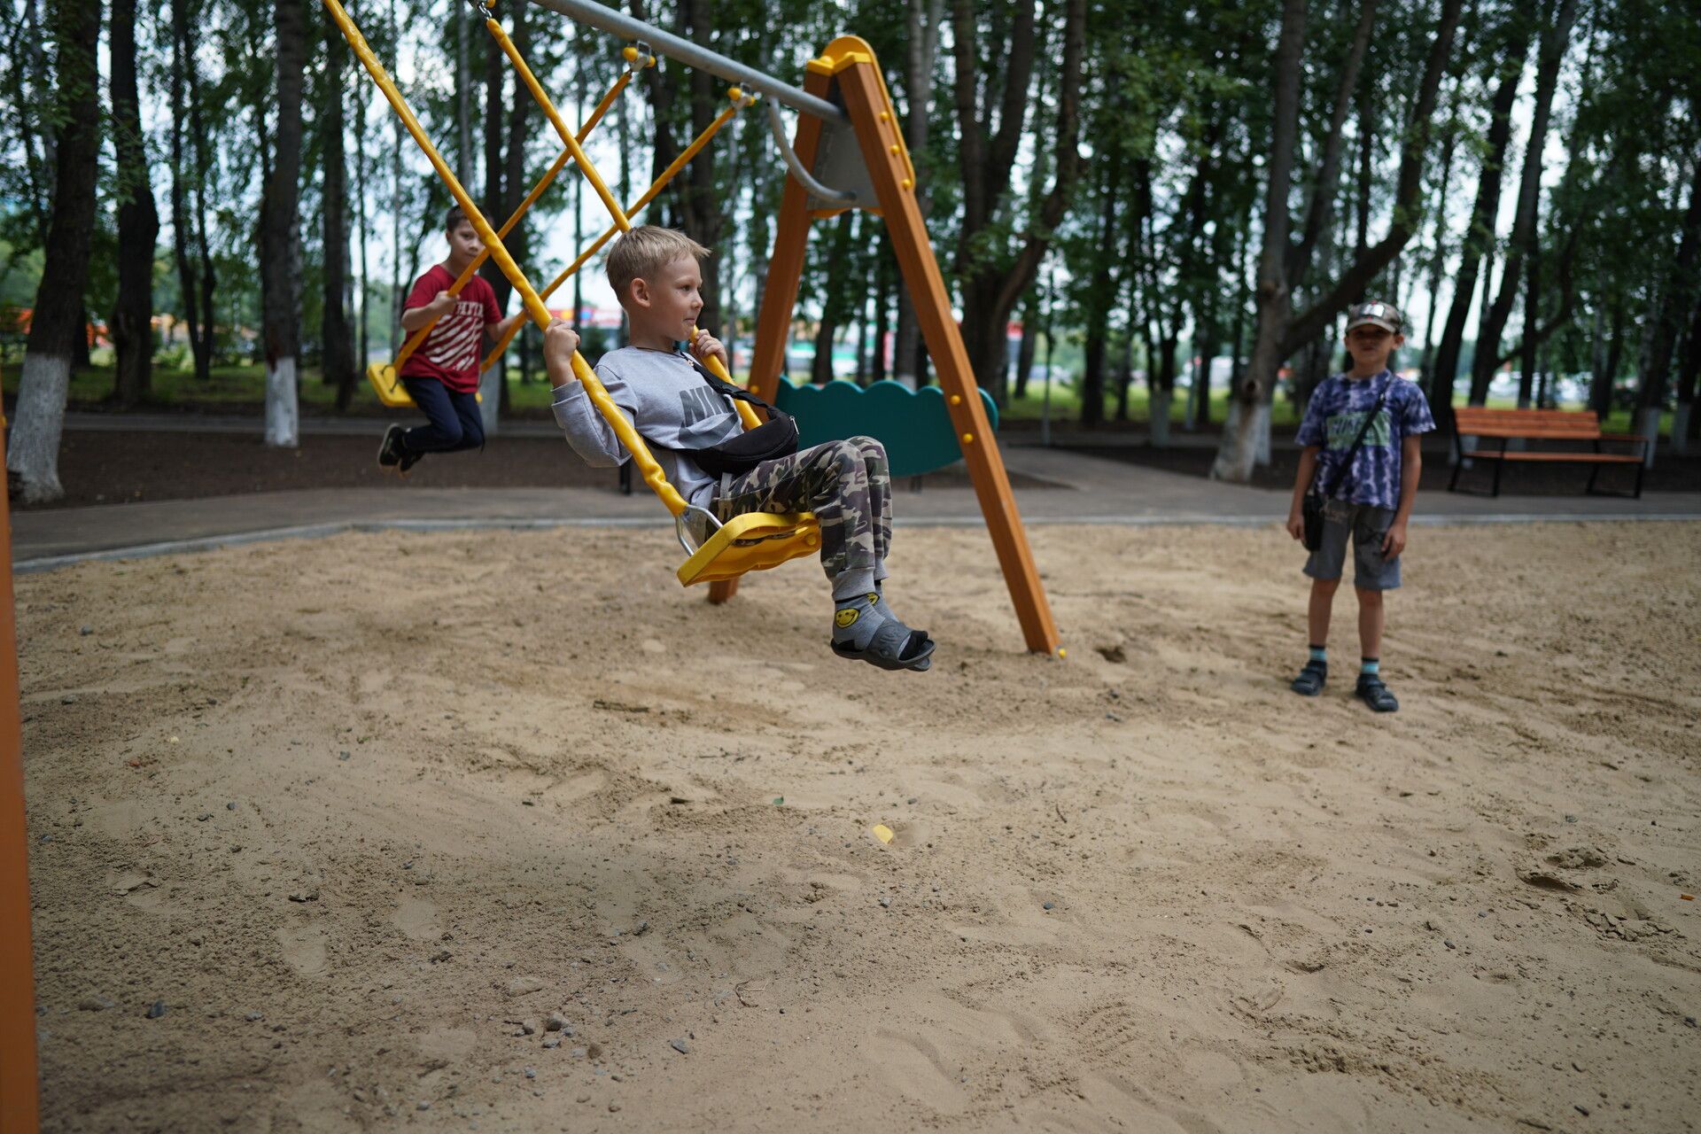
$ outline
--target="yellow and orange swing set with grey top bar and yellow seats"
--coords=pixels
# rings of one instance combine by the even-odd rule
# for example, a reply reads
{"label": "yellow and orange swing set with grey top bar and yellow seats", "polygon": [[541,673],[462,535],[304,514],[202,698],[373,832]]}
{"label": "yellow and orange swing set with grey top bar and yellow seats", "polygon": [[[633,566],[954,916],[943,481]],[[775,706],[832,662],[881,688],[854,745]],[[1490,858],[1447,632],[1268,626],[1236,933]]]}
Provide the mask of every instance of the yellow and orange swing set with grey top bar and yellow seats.
{"label": "yellow and orange swing set with grey top bar and yellow seats", "polygon": [[[767,75],[750,71],[706,48],[624,17],[602,5],[590,3],[589,0],[531,0],[539,7],[561,12],[575,22],[634,39],[640,46],[624,49],[629,65],[638,63],[640,56],[643,58],[643,66],[653,65],[655,56],[648,54],[648,44],[660,44],[663,54],[674,54],[684,61],[704,66],[716,75],[748,77],[728,90],[733,105],[708,126],[629,209],[623,211],[585,156],[580,143],[589,136],[607,105],[612,104],[612,99],[629,83],[633,71],[640,68],[628,68],[626,75],[621,77],[597,105],[592,117],[575,134],[561,121],[560,112],[556,112],[538,78],[526,65],[526,60],[521,58],[486,3],[483,0],[469,0],[485,19],[485,27],[514,65],[521,82],[538,105],[543,107],[549,124],[566,146],[565,153],[551,167],[551,172],[532,189],[498,233],[492,230],[471,196],[456,180],[447,163],[444,163],[430,138],[420,128],[418,119],[408,109],[401,92],[373,54],[361,31],[349,19],[340,0],[321,2],[338,31],[349,41],[356,58],[366,66],[408,134],[413,136],[413,141],[418,143],[432,163],[437,177],[473,223],[480,240],[485,243],[486,255],[497,262],[502,274],[514,284],[526,306],[526,313],[539,328],[548,326],[551,318],[548,306],[544,306],[544,298],[578,272],[616,233],[628,231],[631,228],[629,218],[660,196],[674,175],[709,143],[714,133],[738,109],[755,102],[755,94],[769,94],[772,99],[786,100],[798,107],[801,111],[798,129],[794,138],[788,141],[781,131],[777,109],[772,100],[769,104],[776,139],[788,160],[789,175],[776,224],[774,252],[765,275],[762,308],[757,315],[750,389],[757,396],[774,401],[779,372],[784,364],[786,335],[798,299],[810,223],[815,218],[833,216],[847,207],[861,207],[883,218],[891,235],[905,286],[915,303],[917,321],[920,323],[929,355],[934,360],[934,371],[939,384],[944,388],[951,423],[961,442],[981,515],[987,520],[1017,621],[1022,626],[1022,636],[1031,651],[1063,656],[1065,651],[1058,643],[1051,607],[1039,585],[1033,551],[1027,546],[1027,537],[1015,510],[1015,500],[1010,493],[1009,474],[998,456],[997,440],[992,435],[985,408],[981,406],[963,337],[951,316],[949,292],[946,291],[944,277],[939,272],[939,264],[934,258],[932,243],[927,236],[927,226],[915,201],[915,167],[910,163],[898,116],[886,92],[886,82],[881,77],[874,51],[866,41],[856,36],[840,36],[828,44],[822,58],[810,60],[806,65],[805,87],[799,92]],[[752,94],[745,94],[747,88]],[[590,182],[597,197],[607,207],[614,224],[539,294],[509,255],[502,236],[512,230],[526,209],[548,187],[555,173],[565,168],[568,162],[577,163],[578,172]],[[845,192],[827,189],[822,182],[815,180],[815,175],[822,172],[830,173],[837,180],[849,180],[854,187]],[[466,282],[476,267],[475,264],[463,272],[463,279],[456,281],[458,287]],[[502,357],[514,333],[517,333],[517,326],[483,360],[485,369]],[[422,340],[425,333],[429,333],[429,328],[415,332],[410,345],[417,347],[415,340]],[[395,374],[407,359],[407,354],[408,349],[405,347],[396,362],[386,367],[374,367],[378,372],[373,376],[373,383],[379,389],[381,398],[384,396],[381,381],[388,381],[391,389],[395,389],[398,384]],[[577,350],[573,352],[572,367],[573,376],[590,396],[590,403],[609,422],[621,445],[631,454],[633,464],[638,468],[645,485],[650,486],[674,515],[679,541],[687,553],[686,563],[677,571],[682,585],[711,583],[709,600],[726,602],[735,593],[738,578],[747,571],[777,566],[788,559],[810,554],[820,546],[818,524],[808,512],[786,515],[747,513],[721,524],[703,508],[689,505],[667,481],[650,449],[633,428],[633,423],[614,406],[602,383],[597,381],[595,372]],[[720,360],[711,359],[709,369],[716,377],[731,381]],[[386,398],[386,405],[398,403]],[[738,403],[738,413],[745,428],[754,428],[759,423],[755,411],[745,403]],[[686,519],[691,512],[706,515],[709,525],[714,529],[709,539],[696,547],[687,539]]]}

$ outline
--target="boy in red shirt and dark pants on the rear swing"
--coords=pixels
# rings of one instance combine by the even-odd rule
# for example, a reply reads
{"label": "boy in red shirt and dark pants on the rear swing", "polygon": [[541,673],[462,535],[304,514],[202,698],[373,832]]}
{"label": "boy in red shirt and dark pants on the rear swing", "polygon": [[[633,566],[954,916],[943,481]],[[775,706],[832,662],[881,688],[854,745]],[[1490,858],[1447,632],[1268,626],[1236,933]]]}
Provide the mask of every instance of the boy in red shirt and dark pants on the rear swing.
{"label": "boy in red shirt and dark pants on the rear swing", "polygon": [[413,281],[401,311],[401,330],[410,335],[437,320],[418,350],[401,364],[401,384],[430,423],[413,428],[391,425],[378,447],[378,468],[395,469],[403,476],[427,452],[483,447],[478,355],[485,337],[502,338],[509,326],[526,318],[524,309],[502,318],[497,292],[481,275],[466,281],[461,294],[449,294],[456,277],[485,250],[485,241],[458,207],[449,209],[444,231],[449,236],[449,257]]}

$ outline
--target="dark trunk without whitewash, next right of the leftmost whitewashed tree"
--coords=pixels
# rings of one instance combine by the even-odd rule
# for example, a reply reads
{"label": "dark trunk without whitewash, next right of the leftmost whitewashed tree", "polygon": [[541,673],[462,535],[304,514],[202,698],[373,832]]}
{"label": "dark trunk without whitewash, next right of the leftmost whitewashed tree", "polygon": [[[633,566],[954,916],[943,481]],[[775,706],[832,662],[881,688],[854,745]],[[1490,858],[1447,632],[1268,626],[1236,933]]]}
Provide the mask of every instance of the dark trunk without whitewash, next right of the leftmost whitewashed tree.
{"label": "dark trunk without whitewash, next right of the leftmost whitewashed tree", "polygon": [[141,134],[136,90],[136,0],[112,0],[112,146],[117,155],[117,304],[112,345],[117,349],[119,405],[148,396],[153,374],[153,247],[160,214],[148,182],[148,151]]}

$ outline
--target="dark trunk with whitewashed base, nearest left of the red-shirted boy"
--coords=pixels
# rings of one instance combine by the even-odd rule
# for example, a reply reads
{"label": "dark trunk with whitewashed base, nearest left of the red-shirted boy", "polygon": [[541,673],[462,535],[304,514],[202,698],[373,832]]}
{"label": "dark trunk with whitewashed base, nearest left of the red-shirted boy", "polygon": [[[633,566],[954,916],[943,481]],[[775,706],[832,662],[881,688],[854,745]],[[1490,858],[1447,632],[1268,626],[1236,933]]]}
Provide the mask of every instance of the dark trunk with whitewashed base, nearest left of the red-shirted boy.
{"label": "dark trunk with whitewashed base, nearest left of the red-shirted boy", "polygon": [[260,289],[265,340],[265,444],[294,449],[299,440],[298,366],[301,355],[301,73],[306,63],[303,0],[276,0],[277,141],[260,199]]}

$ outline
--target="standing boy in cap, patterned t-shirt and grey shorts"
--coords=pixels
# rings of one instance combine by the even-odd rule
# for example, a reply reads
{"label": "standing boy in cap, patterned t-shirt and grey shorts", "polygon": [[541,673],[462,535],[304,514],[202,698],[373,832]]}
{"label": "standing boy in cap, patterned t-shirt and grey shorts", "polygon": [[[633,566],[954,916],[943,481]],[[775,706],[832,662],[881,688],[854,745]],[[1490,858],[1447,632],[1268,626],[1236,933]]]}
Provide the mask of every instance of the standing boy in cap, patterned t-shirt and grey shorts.
{"label": "standing boy in cap, patterned t-shirt and grey shorts", "polygon": [[1351,536],[1363,653],[1354,692],[1376,712],[1400,707],[1380,672],[1383,592],[1400,585],[1405,525],[1424,469],[1419,435],[1436,428],[1424,391],[1388,369],[1388,359],[1405,343],[1400,332],[1402,316],[1393,304],[1361,303],[1347,311],[1352,369],[1323,381],[1305,408],[1298,435],[1305,452],[1288,512],[1288,534],[1301,539],[1301,507],[1315,478],[1325,500],[1323,541],[1305,561],[1305,573],[1311,576],[1311,656],[1293,678],[1293,692],[1315,697],[1328,678],[1328,615]]}

